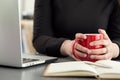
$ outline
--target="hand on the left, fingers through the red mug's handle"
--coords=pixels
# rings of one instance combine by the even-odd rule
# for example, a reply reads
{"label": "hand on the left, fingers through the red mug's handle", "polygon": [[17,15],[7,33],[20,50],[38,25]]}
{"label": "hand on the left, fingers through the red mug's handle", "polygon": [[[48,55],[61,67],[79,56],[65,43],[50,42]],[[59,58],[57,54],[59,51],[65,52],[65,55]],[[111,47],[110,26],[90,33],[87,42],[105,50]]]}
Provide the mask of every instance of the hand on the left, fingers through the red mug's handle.
{"label": "hand on the left, fingers through the red mug's handle", "polygon": [[[83,39],[86,39],[86,36],[84,34],[81,34],[81,33],[77,33],[75,35],[75,38],[83,38]],[[77,59],[74,55],[73,55],[73,52],[72,52],[72,46],[74,44],[75,40],[66,40],[63,42],[62,46],[61,46],[61,53],[62,55],[68,55],[72,58],[74,58],[75,60],[79,60]],[[87,55],[85,53],[89,53],[90,50],[83,47],[82,45],[80,45],[80,43],[76,43],[75,45],[75,53],[80,56],[80,57],[86,57]]]}

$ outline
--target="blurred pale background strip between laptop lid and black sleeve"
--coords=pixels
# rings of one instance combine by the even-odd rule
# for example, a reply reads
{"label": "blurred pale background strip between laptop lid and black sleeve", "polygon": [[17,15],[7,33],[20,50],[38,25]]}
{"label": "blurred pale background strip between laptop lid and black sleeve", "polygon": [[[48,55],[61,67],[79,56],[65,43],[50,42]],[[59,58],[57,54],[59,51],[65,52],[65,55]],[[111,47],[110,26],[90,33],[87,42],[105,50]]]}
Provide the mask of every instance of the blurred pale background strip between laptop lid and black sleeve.
{"label": "blurred pale background strip between laptop lid and black sleeve", "polygon": [[21,6],[21,37],[23,53],[35,53],[32,44],[33,38],[33,18],[34,18],[34,2],[35,0],[20,0]]}

